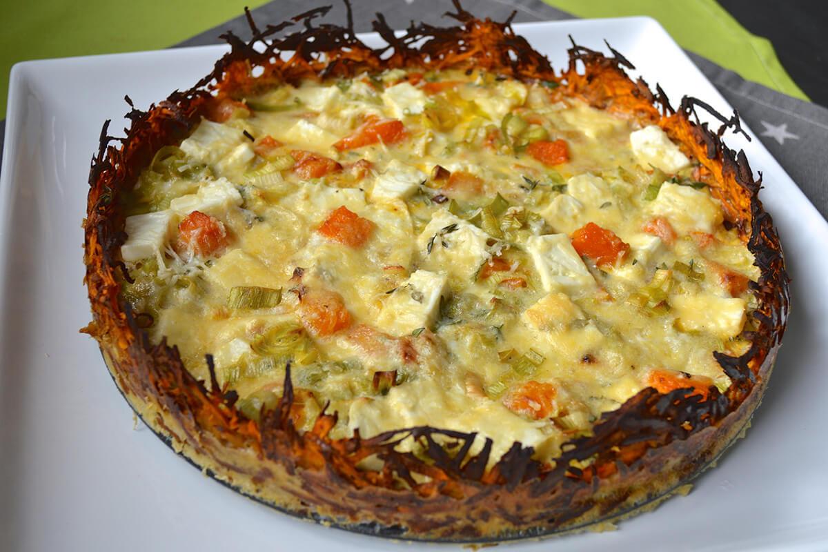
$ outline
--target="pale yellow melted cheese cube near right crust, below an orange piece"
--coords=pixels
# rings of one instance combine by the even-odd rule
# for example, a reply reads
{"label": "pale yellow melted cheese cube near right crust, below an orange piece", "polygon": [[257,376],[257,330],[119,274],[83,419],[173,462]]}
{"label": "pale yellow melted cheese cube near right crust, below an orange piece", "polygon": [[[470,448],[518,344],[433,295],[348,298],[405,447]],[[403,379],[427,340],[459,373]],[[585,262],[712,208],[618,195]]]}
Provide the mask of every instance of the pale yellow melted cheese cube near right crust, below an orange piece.
{"label": "pale yellow melted cheese cube near right crust, below an orange piece", "polygon": [[678,329],[706,332],[722,339],[739,335],[747,319],[747,304],[738,297],[675,295],[670,305],[676,313]]}

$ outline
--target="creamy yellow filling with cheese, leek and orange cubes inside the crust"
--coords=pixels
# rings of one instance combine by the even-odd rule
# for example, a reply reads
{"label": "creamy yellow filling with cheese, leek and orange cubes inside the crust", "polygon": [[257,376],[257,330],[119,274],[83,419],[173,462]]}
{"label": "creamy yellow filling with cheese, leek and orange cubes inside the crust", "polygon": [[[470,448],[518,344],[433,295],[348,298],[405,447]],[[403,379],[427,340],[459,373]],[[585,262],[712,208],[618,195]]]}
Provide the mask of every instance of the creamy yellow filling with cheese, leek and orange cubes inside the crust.
{"label": "creamy yellow filling with cheese, leek and orange cubes inside the crust", "polygon": [[121,293],[253,420],[289,368],[301,429],[325,410],[333,439],[428,425],[546,461],[646,387],[730,385],[713,352],[747,350],[758,268],[696,166],[556,83],[286,84],[157,152]]}

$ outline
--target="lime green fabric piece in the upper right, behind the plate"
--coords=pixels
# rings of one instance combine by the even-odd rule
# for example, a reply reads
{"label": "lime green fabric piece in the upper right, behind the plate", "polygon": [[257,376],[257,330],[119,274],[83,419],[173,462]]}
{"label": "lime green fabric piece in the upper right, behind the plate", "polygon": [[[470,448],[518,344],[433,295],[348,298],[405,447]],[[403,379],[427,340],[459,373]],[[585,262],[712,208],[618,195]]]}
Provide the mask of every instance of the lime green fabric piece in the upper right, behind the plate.
{"label": "lime green fabric piece in the upper right, behind the plate", "polygon": [[[768,39],[739,25],[715,0],[543,0],[577,17],[647,15],[667,29],[673,40],[698,55],[735,71],[743,79],[807,100],[779,63]],[[780,3],[779,9],[785,9]]]}

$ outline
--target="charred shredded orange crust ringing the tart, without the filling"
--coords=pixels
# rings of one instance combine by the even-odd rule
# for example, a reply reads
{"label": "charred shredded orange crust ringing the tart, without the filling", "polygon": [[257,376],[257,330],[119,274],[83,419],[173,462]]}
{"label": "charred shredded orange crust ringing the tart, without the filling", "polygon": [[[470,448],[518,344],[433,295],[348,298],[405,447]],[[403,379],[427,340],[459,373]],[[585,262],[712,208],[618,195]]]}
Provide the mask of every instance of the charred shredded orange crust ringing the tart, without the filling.
{"label": "charred shredded orange crust ringing the tart, without the filling", "polygon": [[[311,22],[322,12],[299,20]],[[380,17],[375,29],[388,41],[384,55],[364,46],[350,27],[308,24],[272,38],[285,25],[258,31],[251,21],[253,40],[229,34],[233,50],[193,89],[172,94],[147,113],[133,109],[132,127],[119,146],[105,125],[85,221],[85,281],[94,321],[84,331],[98,339],[138,415],[176,451],[238,491],[291,514],[370,534],[469,542],[560,533],[627,516],[709,466],[744,430],[761,399],[784,331],[788,292],[778,238],[757,197],[759,182],[744,155],[724,146],[721,132],[694,120],[696,108],[709,109],[704,103],[684,98],[673,111],[663,94],[628,79],[621,68],[632,66],[617,52],[606,57],[573,45],[569,68],[555,74],[508,22],[479,21],[459,6],[450,15],[460,26],[412,26],[403,37]],[[279,55],[283,51],[292,54]],[[577,62],[583,64],[580,73]],[[125,198],[162,148],[180,145],[217,105],[261,98],[282,84],[472,68],[546,83],[553,98],[582,101],[634,127],[661,129],[697,161],[694,179],[720,202],[725,226],[747,244],[758,274],[749,284],[744,351],[713,353],[729,385],[693,394],[647,386],[604,411],[552,458],[521,442],[494,454],[490,440],[480,447],[474,433],[430,426],[343,435],[335,410],[301,424],[290,367],[277,404],[253,415],[242,407],[245,397],[217,375],[212,357],[206,360],[209,382],[200,381],[179,348],[151,338],[152,317],[124,298],[132,285],[124,254],[132,250],[123,249],[130,215]],[[720,119],[722,132],[726,126],[739,130],[738,118]],[[301,271],[294,276],[301,281]],[[403,440],[416,448],[401,447]]]}

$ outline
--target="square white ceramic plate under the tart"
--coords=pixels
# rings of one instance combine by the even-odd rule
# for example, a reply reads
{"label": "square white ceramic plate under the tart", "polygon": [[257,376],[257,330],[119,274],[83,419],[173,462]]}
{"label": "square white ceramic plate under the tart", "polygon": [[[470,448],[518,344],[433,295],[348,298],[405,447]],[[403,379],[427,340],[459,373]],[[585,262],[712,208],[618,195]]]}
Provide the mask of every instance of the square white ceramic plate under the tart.
{"label": "square white ceramic plate under the tart", "polygon": [[[648,18],[516,25],[556,67],[568,35],[633,74],[731,109]],[[272,511],[205,478],[133,421],[91,338],[80,228],[104,119],[123,136],[146,109],[207,74],[223,47],[32,61],[12,70],[0,180],[0,548],[3,550],[412,550]],[[511,550],[826,550],[828,225],[756,140],[728,137],[762,171],[792,276],[793,311],[748,439],[676,497],[619,530]],[[429,550],[458,550],[431,545]]]}

